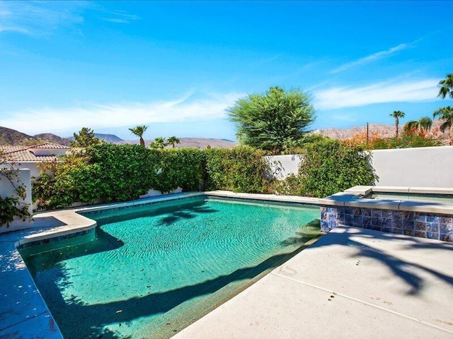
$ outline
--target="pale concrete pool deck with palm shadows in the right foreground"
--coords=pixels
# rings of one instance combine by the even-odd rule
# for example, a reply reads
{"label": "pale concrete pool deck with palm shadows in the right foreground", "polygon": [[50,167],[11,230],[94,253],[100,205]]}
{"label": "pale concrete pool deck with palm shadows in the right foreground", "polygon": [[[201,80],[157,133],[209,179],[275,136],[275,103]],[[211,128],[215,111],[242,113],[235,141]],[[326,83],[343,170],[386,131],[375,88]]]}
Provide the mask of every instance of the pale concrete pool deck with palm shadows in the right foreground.
{"label": "pale concrete pool deck with palm shadows in the right foreground", "polygon": [[337,227],[175,335],[453,338],[453,244]]}

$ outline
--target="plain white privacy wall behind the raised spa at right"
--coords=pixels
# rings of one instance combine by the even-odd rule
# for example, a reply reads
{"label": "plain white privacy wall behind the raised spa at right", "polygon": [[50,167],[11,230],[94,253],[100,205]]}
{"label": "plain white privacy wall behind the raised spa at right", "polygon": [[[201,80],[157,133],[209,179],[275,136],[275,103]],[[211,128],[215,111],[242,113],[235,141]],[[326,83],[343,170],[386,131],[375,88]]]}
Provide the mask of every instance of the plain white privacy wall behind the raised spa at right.
{"label": "plain white privacy wall behind the raised spa at right", "polygon": [[373,150],[379,186],[453,187],[453,146]]}

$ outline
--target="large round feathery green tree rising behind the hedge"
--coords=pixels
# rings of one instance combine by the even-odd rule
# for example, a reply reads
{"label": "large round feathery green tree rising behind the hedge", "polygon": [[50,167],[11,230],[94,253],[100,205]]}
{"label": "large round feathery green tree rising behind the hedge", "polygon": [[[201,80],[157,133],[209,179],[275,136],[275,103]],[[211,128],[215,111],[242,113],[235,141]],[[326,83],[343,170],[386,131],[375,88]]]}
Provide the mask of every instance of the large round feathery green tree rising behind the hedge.
{"label": "large round feathery green tree rising behind the hedge", "polygon": [[314,107],[304,92],[285,92],[279,87],[239,99],[228,115],[242,144],[274,153],[300,145],[315,119]]}

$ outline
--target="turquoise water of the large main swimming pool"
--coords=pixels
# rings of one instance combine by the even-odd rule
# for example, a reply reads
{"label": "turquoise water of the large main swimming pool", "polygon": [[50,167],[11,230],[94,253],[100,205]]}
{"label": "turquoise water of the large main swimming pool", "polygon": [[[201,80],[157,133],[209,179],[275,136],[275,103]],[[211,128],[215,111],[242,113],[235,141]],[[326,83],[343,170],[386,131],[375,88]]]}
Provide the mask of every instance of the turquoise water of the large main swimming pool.
{"label": "turquoise water of the large main swimming pool", "polygon": [[204,197],[87,216],[96,239],[21,251],[64,338],[171,336],[319,234],[318,207]]}

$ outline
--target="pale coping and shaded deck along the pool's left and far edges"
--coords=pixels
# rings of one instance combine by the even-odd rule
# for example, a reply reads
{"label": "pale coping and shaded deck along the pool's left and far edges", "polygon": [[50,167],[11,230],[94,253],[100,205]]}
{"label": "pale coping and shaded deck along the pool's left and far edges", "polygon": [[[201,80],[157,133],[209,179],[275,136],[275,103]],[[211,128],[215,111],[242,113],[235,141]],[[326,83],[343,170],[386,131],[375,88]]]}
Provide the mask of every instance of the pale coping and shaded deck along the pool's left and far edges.
{"label": "pale coping and shaded deck along the pool's left and far edges", "polygon": [[[98,210],[124,209],[133,206],[162,201],[173,201],[195,196],[213,196],[239,198],[255,201],[275,201],[318,206],[318,198],[300,196],[277,196],[274,194],[242,194],[230,191],[207,191],[166,194],[140,198],[122,203],[106,203],[96,206],[81,206],[64,210],[51,210],[36,213],[32,227],[0,234],[0,337],[14,335],[21,338],[33,338],[39,334],[42,338],[63,338],[57,323],[50,314],[18,248],[27,244],[45,242],[58,237],[83,234],[93,230],[97,223],[81,213]],[[26,286],[25,288],[23,288]],[[27,302],[23,302],[24,298]],[[3,309],[5,308],[5,309]],[[26,325],[25,325],[26,323]]]}

